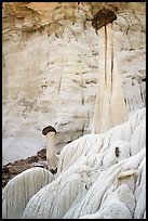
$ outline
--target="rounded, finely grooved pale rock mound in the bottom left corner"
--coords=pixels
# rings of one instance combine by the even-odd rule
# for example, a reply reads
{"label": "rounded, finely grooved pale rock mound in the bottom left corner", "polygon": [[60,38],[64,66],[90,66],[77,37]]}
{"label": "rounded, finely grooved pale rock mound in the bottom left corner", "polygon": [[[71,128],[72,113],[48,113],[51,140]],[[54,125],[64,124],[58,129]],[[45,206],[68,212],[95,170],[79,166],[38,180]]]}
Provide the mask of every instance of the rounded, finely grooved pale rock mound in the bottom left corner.
{"label": "rounded, finely grooved pale rock mound in the bottom left corner", "polygon": [[43,168],[27,169],[10,180],[3,188],[2,218],[21,219],[29,199],[53,180],[54,176]]}

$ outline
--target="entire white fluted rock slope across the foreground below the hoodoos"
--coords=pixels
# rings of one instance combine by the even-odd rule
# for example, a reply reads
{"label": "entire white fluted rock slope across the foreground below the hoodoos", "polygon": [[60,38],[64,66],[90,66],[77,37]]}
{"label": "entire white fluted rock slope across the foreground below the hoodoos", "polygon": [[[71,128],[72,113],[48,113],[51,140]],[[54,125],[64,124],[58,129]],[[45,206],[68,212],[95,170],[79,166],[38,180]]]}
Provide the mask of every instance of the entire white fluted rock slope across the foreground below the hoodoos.
{"label": "entire white fluted rock slope across the foreground below the hoodoos", "polygon": [[[86,134],[64,146],[56,176],[42,168],[16,176],[3,190],[3,218],[145,218],[145,126],[142,108],[105,133]],[[144,142],[133,142],[135,132]]]}

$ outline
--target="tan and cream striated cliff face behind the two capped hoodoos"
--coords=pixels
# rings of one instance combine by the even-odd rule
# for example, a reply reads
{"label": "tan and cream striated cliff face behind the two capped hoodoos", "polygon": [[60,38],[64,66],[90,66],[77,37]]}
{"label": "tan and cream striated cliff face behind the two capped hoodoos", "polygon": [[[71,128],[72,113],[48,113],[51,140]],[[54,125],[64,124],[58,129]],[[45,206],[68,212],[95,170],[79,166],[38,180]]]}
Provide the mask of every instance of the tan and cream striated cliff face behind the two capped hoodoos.
{"label": "tan and cream striated cliff face behind the two capped hoodoos", "polygon": [[[115,56],[130,113],[145,106],[146,5],[106,4],[117,14]],[[57,130],[57,152],[91,132],[102,65],[92,18],[104,5],[3,3],[3,164],[43,148],[41,130],[46,125]]]}

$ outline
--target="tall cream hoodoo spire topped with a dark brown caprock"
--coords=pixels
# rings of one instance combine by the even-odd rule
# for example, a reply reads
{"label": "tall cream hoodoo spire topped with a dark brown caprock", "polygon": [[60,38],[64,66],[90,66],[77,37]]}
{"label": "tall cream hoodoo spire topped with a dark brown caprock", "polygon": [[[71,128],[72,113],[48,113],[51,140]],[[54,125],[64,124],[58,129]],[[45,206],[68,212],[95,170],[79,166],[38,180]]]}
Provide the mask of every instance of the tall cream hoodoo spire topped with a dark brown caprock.
{"label": "tall cream hoodoo spire topped with a dark brown caprock", "polygon": [[127,120],[127,110],[113,54],[112,22],[116,18],[113,12],[104,9],[92,21],[99,38],[99,70],[92,130],[94,133],[105,132]]}

